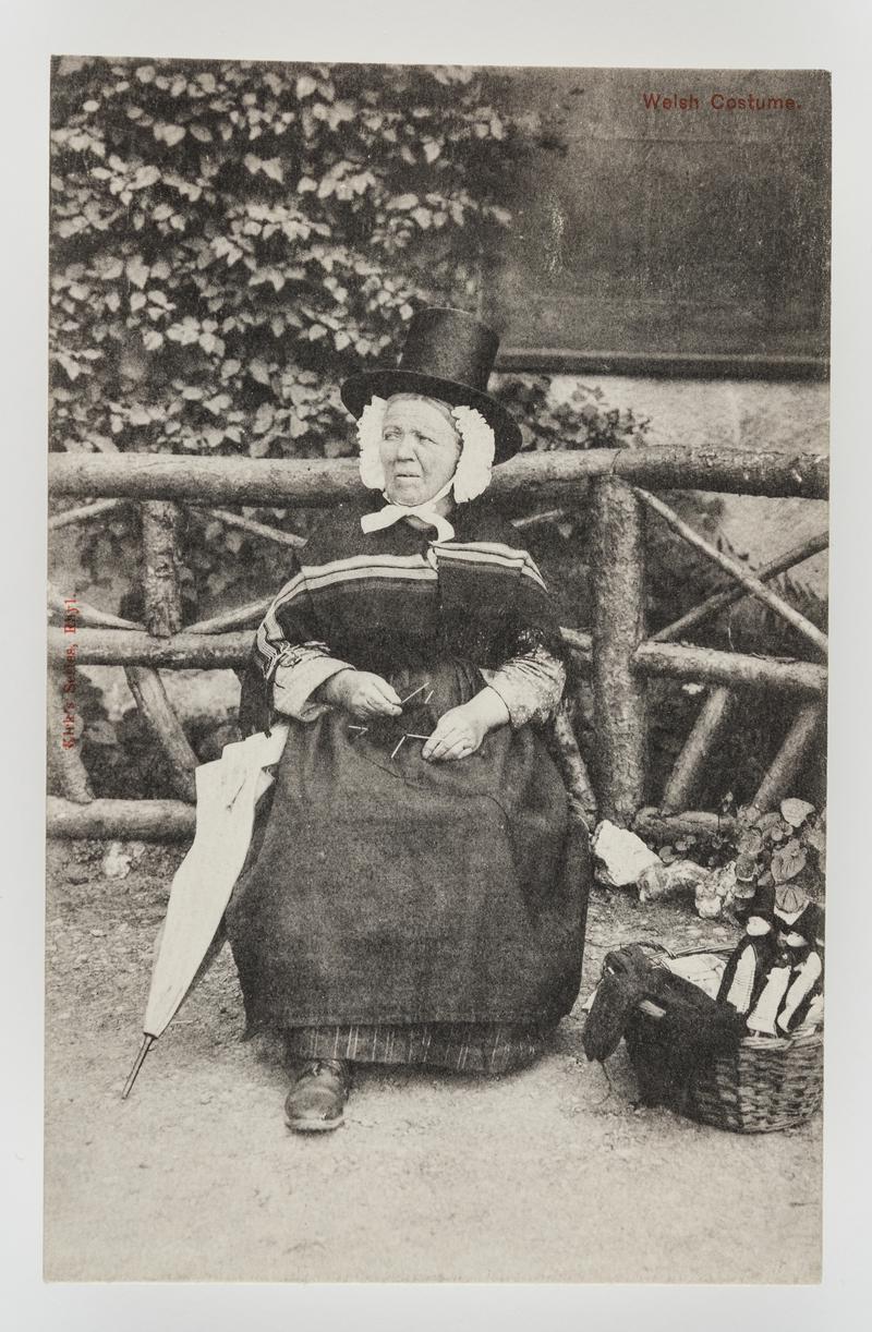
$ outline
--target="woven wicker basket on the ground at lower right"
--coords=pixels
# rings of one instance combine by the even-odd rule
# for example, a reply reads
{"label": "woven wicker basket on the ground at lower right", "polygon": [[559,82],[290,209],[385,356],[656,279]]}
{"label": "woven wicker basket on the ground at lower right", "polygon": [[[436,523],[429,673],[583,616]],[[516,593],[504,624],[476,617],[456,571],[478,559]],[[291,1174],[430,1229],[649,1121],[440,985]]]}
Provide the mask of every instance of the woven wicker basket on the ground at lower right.
{"label": "woven wicker basket on the ground at lower right", "polygon": [[[639,1092],[647,1100],[648,1090],[662,1086],[666,1058],[660,1012],[654,1006],[636,1008],[626,1042]],[[823,1080],[823,1030],[801,1036],[746,1036],[732,1054],[696,1068],[687,1086],[672,1090],[666,1104],[715,1128],[773,1134],[795,1128],[820,1110]]]}

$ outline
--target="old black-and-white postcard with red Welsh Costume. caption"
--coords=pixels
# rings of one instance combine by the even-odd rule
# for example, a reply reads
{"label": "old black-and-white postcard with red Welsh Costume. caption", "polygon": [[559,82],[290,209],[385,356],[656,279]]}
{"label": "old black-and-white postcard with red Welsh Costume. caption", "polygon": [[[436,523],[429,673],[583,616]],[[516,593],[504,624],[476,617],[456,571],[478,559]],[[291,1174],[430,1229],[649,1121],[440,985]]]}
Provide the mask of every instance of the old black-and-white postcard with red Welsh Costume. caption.
{"label": "old black-and-white postcard with red Welsh Costume. caption", "polygon": [[829,73],[49,140],[45,1280],[819,1283]]}

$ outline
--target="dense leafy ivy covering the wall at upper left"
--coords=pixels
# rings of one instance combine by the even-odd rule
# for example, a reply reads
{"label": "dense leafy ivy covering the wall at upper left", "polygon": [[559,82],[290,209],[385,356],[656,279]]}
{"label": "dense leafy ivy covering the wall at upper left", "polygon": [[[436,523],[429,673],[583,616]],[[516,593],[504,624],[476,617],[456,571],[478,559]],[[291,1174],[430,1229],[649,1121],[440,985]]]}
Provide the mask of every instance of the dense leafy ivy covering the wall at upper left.
{"label": "dense leafy ivy covering the wall at upper left", "polygon": [[494,91],[453,67],[57,61],[55,448],[347,452],[338,381],[422,304],[474,305],[511,220],[537,124]]}

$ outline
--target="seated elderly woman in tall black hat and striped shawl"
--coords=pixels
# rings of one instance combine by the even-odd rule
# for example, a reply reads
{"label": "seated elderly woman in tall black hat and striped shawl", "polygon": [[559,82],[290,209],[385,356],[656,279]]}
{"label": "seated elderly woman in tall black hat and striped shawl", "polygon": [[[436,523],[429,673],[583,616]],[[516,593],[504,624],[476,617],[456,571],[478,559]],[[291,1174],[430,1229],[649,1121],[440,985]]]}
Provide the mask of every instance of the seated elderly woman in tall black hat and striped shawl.
{"label": "seated elderly woman in tall black hat and striped shawl", "polygon": [[587,839],[545,742],[554,610],[481,498],[521,444],[498,340],[430,309],[355,376],[361,477],[258,629],[242,726],[290,719],[228,907],[249,1026],[284,1032],[297,1131],[342,1123],[353,1063],[499,1074],[578,994]]}

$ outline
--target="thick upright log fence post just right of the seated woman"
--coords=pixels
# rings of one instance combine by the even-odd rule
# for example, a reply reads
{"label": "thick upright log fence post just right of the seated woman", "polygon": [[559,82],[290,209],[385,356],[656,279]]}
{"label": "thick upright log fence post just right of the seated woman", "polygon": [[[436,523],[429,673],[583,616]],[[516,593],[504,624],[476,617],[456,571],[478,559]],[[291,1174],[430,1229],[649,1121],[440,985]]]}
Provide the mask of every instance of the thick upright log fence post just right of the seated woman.
{"label": "thick upright log fence post just right of the seated woman", "polygon": [[644,530],[616,477],[592,485],[591,582],[599,814],[628,827],[644,798],[646,691],[632,666],[644,637]]}

